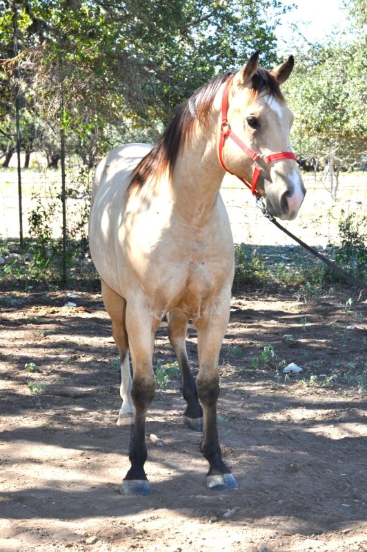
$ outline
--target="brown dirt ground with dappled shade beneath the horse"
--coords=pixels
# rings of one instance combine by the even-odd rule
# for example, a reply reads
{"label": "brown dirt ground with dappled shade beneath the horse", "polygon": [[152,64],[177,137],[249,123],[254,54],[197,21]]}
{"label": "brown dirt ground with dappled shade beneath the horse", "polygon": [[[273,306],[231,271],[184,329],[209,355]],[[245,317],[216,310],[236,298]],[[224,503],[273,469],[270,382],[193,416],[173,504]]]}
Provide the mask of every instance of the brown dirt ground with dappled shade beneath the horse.
{"label": "brown dirt ground with dappled shade beneath the horse", "polygon": [[[1,551],[366,552],[358,290],[307,302],[290,290],[237,292],[218,418],[239,489],[206,489],[201,435],[182,424],[174,379],[148,415],[147,437],[163,440],[148,439],[150,497],[119,493],[130,428],[115,424],[117,350],[101,295],[76,293],[0,293]],[[188,353],[197,371],[193,328]],[[162,324],[155,363],[174,360]],[[303,371],[286,377],[290,362]]]}

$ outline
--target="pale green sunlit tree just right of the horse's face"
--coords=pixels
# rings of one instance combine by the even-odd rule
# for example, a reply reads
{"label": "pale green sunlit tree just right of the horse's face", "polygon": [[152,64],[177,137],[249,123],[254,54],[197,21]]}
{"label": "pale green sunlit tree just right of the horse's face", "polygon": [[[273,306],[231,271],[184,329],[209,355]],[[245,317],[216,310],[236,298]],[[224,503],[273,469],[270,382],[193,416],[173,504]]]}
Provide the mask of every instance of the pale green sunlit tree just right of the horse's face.
{"label": "pale green sunlit tree just right of the horse's face", "polygon": [[324,161],[335,198],[339,171],[366,154],[366,42],[330,41],[297,52],[286,83],[295,112],[293,142],[299,157]]}

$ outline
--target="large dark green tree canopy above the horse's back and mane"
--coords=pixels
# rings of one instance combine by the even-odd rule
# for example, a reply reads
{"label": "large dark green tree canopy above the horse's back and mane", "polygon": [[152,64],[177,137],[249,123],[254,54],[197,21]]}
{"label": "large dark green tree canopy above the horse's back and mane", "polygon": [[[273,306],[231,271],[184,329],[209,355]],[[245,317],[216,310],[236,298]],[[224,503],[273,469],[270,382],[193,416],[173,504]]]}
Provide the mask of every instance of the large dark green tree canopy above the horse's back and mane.
{"label": "large dark green tree canopy above the horse's back and mane", "polygon": [[[117,139],[157,137],[177,103],[254,50],[277,61],[277,0],[0,1],[3,41],[17,9],[20,61],[37,119],[59,119],[90,158]],[[267,23],[271,12],[271,23]]]}

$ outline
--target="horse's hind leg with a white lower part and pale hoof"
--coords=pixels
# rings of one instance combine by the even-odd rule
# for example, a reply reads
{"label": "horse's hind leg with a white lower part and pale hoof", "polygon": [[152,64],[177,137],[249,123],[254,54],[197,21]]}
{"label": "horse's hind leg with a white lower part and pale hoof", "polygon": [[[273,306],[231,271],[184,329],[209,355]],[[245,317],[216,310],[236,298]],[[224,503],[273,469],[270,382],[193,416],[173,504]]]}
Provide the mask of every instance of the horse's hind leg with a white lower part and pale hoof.
{"label": "horse's hind leg with a white lower part and pale hoof", "polygon": [[117,425],[122,426],[132,423],[132,417],[134,414],[134,408],[131,401],[131,375],[130,375],[130,362],[128,351],[128,335],[126,333],[126,300],[120,295],[117,295],[115,291],[112,291],[108,285],[101,281],[102,284],[102,297],[106,306],[106,311],[110,315],[112,320],[112,336],[115,339],[117,348],[120,355],[121,366],[121,384],[120,384],[120,396],[122,399],[122,405],[119,411],[119,417],[117,418]]}

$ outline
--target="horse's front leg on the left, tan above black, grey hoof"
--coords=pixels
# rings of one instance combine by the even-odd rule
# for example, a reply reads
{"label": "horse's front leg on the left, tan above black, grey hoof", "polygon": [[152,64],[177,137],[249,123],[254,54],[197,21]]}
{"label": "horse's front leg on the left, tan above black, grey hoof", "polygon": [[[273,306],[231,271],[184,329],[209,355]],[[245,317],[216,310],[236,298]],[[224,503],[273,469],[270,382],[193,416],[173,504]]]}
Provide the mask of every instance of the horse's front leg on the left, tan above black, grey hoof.
{"label": "horse's front leg on the left, tan above black, grey hoof", "polygon": [[146,415],[155,395],[155,375],[152,367],[154,336],[160,320],[142,313],[140,309],[126,309],[126,328],[132,359],[133,377],[131,398],[135,409],[129,460],[131,467],[123,479],[121,493],[150,495],[151,489],[144,464],[146,449]]}

